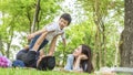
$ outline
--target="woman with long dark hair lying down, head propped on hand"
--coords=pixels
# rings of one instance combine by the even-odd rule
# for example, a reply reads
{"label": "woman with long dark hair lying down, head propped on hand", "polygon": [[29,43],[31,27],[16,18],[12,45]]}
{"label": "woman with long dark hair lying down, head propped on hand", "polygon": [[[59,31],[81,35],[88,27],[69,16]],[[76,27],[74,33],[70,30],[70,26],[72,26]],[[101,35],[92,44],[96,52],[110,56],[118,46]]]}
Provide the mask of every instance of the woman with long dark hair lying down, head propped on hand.
{"label": "woman with long dark hair lying down, head propped on hand", "polygon": [[91,49],[88,45],[80,45],[72,54],[68,55],[65,71],[93,72]]}

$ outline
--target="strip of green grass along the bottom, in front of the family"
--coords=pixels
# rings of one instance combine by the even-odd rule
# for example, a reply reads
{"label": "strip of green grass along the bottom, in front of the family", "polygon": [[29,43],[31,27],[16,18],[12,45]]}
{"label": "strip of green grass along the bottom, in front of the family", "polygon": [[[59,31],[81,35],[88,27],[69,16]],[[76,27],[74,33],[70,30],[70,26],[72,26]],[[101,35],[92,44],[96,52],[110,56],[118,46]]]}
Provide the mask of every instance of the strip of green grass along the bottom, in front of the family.
{"label": "strip of green grass along the bottom, in front of the family", "polygon": [[63,71],[37,71],[33,68],[0,68],[0,75],[89,75],[89,74]]}

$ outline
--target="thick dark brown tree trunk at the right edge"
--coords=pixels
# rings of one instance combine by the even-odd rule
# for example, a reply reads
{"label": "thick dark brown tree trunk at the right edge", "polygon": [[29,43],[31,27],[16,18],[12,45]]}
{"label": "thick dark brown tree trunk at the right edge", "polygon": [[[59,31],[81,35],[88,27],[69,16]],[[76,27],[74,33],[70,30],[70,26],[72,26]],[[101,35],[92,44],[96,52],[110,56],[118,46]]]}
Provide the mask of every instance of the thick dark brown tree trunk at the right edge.
{"label": "thick dark brown tree trunk at the right edge", "polygon": [[133,67],[133,0],[124,1],[124,30],[120,40],[121,66]]}

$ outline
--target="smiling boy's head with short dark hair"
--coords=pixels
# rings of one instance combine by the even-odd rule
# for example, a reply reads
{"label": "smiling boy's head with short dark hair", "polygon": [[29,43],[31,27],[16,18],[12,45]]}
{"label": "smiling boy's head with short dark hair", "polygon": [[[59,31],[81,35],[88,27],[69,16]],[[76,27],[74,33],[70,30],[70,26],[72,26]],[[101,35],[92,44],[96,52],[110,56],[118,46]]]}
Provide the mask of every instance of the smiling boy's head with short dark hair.
{"label": "smiling boy's head with short dark hair", "polygon": [[59,25],[61,26],[61,29],[63,29],[64,26],[68,26],[71,23],[71,15],[69,13],[63,13],[60,17]]}

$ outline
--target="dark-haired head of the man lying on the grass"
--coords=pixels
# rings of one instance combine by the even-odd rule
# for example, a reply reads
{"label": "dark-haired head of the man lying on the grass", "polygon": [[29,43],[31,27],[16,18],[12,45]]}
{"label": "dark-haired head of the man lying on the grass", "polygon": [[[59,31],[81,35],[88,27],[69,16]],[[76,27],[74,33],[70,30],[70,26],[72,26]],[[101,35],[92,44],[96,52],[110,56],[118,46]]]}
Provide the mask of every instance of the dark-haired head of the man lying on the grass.
{"label": "dark-haired head of the man lying on the grass", "polygon": [[54,56],[45,56],[40,61],[37,68],[40,71],[47,71],[47,69],[53,69],[54,66],[55,66],[55,57]]}

